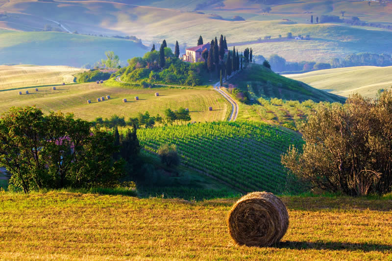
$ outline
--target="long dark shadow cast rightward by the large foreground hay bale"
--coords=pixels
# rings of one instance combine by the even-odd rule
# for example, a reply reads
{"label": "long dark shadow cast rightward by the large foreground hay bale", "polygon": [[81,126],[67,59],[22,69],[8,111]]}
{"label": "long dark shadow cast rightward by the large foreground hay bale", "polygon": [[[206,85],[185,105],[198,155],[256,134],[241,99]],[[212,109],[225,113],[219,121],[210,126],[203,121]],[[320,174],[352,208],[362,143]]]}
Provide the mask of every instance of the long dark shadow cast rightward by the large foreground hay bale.
{"label": "long dark shadow cast rightward by the large foreground hay bale", "polygon": [[283,241],[275,245],[278,248],[287,249],[317,249],[317,250],[361,250],[369,251],[391,251],[392,245],[374,243],[343,243],[343,242],[309,242],[309,241]]}

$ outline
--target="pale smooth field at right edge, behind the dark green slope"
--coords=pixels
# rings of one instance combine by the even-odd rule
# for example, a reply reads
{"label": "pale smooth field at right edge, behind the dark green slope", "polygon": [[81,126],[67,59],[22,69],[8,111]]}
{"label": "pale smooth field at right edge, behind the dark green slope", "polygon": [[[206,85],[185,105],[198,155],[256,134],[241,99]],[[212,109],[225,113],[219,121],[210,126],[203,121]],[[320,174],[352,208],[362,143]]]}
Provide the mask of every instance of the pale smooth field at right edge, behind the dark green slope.
{"label": "pale smooth field at right edge, behind the dark green slope", "polygon": [[285,76],[345,97],[359,93],[374,98],[379,89],[387,89],[392,86],[392,66],[337,68]]}

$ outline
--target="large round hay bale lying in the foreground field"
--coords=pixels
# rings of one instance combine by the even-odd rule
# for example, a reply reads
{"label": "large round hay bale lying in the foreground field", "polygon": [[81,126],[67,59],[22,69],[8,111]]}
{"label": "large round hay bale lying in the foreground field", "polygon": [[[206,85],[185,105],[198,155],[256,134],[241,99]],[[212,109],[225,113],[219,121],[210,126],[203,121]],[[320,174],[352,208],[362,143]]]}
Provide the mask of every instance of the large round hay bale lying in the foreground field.
{"label": "large round hay bale lying in the foreground field", "polygon": [[239,245],[271,246],[286,234],[289,214],[270,192],[252,192],[240,198],[227,219],[229,234]]}

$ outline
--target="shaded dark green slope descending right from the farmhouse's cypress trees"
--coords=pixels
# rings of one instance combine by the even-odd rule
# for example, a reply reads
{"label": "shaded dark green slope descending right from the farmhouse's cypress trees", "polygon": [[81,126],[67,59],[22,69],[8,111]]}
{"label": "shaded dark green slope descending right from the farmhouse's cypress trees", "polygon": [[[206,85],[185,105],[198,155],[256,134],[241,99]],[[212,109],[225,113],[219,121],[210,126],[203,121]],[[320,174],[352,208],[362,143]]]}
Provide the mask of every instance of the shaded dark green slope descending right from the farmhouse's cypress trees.
{"label": "shaded dark green slope descending right from the farmhouse's cypress trees", "polygon": [[316,102],[344,102],[345,100],[341,96],[284,77],[258,64],[251,64],[249,68],[239,71],[228,80],[228,83],[250,92],[256,99],[259,97],[298,101],[311,99]]}

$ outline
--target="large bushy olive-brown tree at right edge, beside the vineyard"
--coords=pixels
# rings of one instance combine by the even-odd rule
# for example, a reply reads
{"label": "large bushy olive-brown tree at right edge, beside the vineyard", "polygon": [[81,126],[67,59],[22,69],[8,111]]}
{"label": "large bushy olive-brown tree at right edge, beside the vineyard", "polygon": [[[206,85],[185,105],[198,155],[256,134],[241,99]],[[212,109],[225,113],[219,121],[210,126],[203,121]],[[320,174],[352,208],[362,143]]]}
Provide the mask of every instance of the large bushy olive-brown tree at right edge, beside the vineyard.
{"label": "large bushy olive-brown tree at right edge, beside the vineyard", "polygon": [[392,91],[376,100],[350,96],[344,105],[320,104],[282,164],[314,187],[348,195],[392,190]]}

